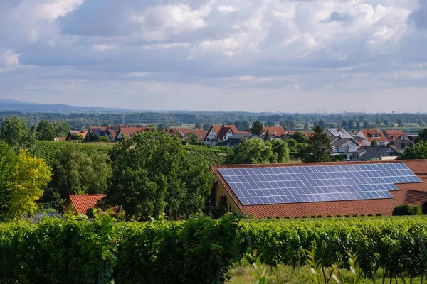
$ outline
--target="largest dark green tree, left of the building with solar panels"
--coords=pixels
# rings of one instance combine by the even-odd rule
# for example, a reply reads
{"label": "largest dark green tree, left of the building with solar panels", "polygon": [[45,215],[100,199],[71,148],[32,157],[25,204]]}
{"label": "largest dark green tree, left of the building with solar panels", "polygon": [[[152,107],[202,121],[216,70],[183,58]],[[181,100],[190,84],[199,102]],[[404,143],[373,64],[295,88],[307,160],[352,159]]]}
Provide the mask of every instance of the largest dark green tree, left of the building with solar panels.
{"label": "largest dark green tree, left of the building with solar panels", "polygon": [[110,159],[105,204],[122,207],[127,219],[201,212],[214,182],[206,163],[189,160],[181,143],[164,132],[145,131],[123,139],[112,148]]}

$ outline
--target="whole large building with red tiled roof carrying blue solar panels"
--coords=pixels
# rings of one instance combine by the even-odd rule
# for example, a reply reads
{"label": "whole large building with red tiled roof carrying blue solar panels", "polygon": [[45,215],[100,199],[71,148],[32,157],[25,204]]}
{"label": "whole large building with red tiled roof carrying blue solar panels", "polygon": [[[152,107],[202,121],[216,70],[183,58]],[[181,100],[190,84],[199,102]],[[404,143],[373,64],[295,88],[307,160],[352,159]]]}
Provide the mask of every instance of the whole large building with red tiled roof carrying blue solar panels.
{"label": "whole large building with red tiled roof carrying blue solar panels", "polygon": [[[255,218],[427,212],[427,160],[211,165],[211,204]],[[223,205],[225,203],[225,206]]]}

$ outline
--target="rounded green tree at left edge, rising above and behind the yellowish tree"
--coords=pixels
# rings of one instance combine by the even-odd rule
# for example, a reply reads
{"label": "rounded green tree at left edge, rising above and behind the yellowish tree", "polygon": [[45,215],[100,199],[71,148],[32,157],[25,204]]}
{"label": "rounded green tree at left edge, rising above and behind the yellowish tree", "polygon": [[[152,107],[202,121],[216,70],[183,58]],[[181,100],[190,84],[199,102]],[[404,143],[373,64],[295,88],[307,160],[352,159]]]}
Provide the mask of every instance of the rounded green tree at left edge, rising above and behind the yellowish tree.
{"label": "rounded green tree at left edge, rising above and behind the yellowish tree", "polygon": [[0,140],[18,152],[21,148],[31,148],[33,137],[29,135],[28,124],[19,116],[9,116],[0,127]]}

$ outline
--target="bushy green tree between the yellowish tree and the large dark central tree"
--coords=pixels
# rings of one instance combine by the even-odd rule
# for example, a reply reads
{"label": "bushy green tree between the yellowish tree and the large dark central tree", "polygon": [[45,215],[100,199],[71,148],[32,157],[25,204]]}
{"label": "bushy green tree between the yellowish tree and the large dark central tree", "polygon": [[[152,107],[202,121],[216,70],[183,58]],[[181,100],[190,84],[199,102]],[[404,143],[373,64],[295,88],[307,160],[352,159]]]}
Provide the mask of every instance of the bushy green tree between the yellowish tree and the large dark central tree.
{"label": "bushy green tree between the yellowish tree and the large dark central tree", "polygon": [[58,188],[62,197],[75,194],[103,193],[112,175],[106,153],[88,155],[70,145],[56,153],[53,164],[52,187]]}

